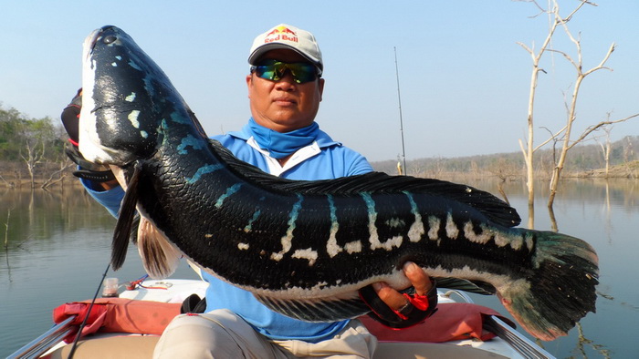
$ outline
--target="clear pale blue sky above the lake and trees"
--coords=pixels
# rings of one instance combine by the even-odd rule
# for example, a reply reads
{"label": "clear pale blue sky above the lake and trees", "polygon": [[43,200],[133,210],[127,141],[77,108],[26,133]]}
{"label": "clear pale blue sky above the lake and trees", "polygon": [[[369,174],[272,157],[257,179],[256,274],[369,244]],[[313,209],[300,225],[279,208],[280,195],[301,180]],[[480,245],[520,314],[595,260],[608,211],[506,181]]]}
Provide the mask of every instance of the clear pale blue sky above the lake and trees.
{"label": "clear pale blue sky above the lake and trees", "polygon": [[[560,0],[560,14],[576,5]],[[639,113],[639,1],[597,5],[582,7],[568,25],[581,39],[583,69],[616,47],[610,70],[581,85],[572,138]],[[324,59],[319,127],[371,161],[519,151],[532,71],[519,43],[539,49],[549,27],[536,6],[511,0],[0,0],[0,8],[2,108],[58,119],[81,83],[84,38],[114,25],[162,67],[209,135],[237,130],[250,117],[253,38],[281,23],[309,30]],[[552,48],[577,58],[562,30]],[[576,78],[559,53],[547,53],[541,67],[535,145],[565,125]],[[639,118],[611,131],[613,140],[637,135]]]}

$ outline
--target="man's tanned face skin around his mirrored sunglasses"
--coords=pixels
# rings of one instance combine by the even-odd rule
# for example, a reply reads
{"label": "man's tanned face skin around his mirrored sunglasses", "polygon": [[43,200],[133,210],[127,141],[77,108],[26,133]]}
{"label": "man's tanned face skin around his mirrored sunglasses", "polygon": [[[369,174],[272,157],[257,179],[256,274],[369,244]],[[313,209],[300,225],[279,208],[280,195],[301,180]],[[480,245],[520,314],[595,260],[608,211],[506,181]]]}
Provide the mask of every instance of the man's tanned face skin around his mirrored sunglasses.
{"label": "man's tanned face skin around his mirrored sunglasses", "polygon": [[[260,60],[273,59],[286,63],[308,62],[293,50],[271,50]],[[257,124],[278,132],[305,128],[313,123],[318,113],[324,79],[318,78],[298,84],[290,71],[277,81],[246,76],[251,114]]]}

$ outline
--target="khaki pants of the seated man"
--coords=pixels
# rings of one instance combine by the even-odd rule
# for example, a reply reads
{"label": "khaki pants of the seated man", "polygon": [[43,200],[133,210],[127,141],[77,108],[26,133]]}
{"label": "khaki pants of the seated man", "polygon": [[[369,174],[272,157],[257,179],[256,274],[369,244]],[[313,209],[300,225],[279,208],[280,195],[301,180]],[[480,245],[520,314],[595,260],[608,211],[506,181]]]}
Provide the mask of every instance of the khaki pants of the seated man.
{"label": "khaki pants of the seated man", "polygon": [[357,320],[316,344],[271,341],[231,311],[183,314],[166,327],[153,358],[370,358],[377,339]]}

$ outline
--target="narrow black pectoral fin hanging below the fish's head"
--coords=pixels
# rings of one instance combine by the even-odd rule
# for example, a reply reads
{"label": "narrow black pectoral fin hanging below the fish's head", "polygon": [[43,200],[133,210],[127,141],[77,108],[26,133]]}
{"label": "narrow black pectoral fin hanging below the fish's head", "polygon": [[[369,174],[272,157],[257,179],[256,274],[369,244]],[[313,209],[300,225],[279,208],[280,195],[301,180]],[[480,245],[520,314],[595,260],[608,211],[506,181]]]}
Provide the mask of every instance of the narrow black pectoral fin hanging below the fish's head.
{"label": "narrow black pectoral fin hanging below the fish's head", "polygon": [[138,181],[140,180],[141,163],[136,162],[133,165],[133,173],[127,181],[127,190],[124,192],[124,198],[120,204],[120,212],[118,213],[118,221],[113,231],[113,241],[111,242],[111,266],[117,271],[124,264],[127,257],[127,247],[133,229],[133,220],[136,213],[136,205],[138,203]]}

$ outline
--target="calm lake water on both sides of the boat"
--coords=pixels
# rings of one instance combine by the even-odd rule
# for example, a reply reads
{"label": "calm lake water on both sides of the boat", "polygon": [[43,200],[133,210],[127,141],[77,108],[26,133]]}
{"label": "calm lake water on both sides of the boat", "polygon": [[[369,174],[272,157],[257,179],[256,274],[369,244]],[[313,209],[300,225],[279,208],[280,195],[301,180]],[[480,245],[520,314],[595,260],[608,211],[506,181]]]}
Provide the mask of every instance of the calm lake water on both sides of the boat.
{"label": "calm lake water on both sides of the boat", "polygon": [[[470,184],[498,193],[494,181]],[[637,357],[639,181],[564,182],[552,217],[542,186],[532,218],[524,184],[509,182],[504,190],[523,227],[534,223],[537,230],[557,228],[590,242],[599,254],[600,284],[597,313],[589,313],[568,336],[540,344],[558,358]],[[47,331],[51,311],[59,304],[93,297],[110,260],[114,224],[106,210],[79,189],[0,190],[0,357]],[[131,248],[124,268],[108,276],[127,282],[143,274]],[[183,263],[173,277],[195,275]],[[473,298],[506,312],[495,297]]]}

